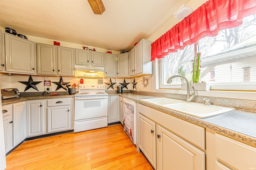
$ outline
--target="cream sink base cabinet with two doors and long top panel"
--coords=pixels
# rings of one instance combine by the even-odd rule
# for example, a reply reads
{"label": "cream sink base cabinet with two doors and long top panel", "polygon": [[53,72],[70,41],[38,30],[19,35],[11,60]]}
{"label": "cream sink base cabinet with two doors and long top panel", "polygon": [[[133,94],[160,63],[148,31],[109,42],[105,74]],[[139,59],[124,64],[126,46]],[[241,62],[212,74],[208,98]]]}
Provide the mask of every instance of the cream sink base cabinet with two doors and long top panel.
{"label": "cream sink base cabinet with two doors and long top panel", "polygon": [[137,146],[155,169],[205,170],[203,127],[142,104],[136,107]]}

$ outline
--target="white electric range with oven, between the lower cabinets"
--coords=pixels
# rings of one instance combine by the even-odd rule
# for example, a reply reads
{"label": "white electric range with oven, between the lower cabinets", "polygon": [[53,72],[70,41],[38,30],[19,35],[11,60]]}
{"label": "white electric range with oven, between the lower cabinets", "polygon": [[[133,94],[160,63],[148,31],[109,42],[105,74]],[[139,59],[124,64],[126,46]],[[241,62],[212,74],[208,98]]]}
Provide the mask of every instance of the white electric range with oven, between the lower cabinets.
{"label": "white electric range with oven, between the lower cabinets", "polygon": [[74,132],[108,126],[108,94],[104,84],[79,84],[74,106]]}

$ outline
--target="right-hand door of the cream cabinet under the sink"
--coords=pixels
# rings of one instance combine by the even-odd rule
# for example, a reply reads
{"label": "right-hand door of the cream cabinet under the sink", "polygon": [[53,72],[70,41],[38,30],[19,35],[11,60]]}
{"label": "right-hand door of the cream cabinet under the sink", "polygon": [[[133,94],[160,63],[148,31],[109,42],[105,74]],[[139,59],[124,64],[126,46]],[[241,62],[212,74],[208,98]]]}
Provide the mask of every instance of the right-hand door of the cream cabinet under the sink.
{"label": "right-hand door of the cream cabinet under the sink", "polygon": [[205,153],[190,143],[156,125],[158,170],[204,170]]}

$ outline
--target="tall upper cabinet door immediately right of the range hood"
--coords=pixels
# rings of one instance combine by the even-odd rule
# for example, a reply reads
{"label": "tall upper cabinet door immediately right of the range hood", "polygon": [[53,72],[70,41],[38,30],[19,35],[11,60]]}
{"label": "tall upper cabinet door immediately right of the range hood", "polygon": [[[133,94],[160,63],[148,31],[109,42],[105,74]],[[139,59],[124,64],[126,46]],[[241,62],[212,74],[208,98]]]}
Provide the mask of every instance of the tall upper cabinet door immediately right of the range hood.
{"label": "tall upper cabinet door immediately right of the range hood", "polygon": [[106,53],[105,77],[116,77],[116,55]]}

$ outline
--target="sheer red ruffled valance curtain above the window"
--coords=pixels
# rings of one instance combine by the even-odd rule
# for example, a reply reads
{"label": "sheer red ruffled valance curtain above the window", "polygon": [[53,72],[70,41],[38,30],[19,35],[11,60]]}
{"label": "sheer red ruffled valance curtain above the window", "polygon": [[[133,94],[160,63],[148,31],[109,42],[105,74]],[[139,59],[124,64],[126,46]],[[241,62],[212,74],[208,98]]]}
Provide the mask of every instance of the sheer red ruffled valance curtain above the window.
{"label": "sheer red ruffled valance curtain above the window", "polygon": [[221,29],[237,27],[256,13],[256,0],[209,0],[151,44],[151,61],[184,49]]}

